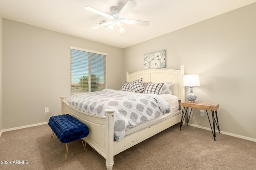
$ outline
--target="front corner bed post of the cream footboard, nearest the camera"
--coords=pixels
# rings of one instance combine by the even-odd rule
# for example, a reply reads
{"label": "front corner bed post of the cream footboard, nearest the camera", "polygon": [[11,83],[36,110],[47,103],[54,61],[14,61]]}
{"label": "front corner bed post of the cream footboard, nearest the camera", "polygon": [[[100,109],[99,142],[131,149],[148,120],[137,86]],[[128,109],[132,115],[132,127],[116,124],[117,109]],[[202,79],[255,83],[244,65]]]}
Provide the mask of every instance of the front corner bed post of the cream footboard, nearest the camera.
{"label": "front corner bed post of the cream footboard, nearest the camera", "polygon": [[114,165],[114,109],[106,109],[106,167],[112,170]]}

